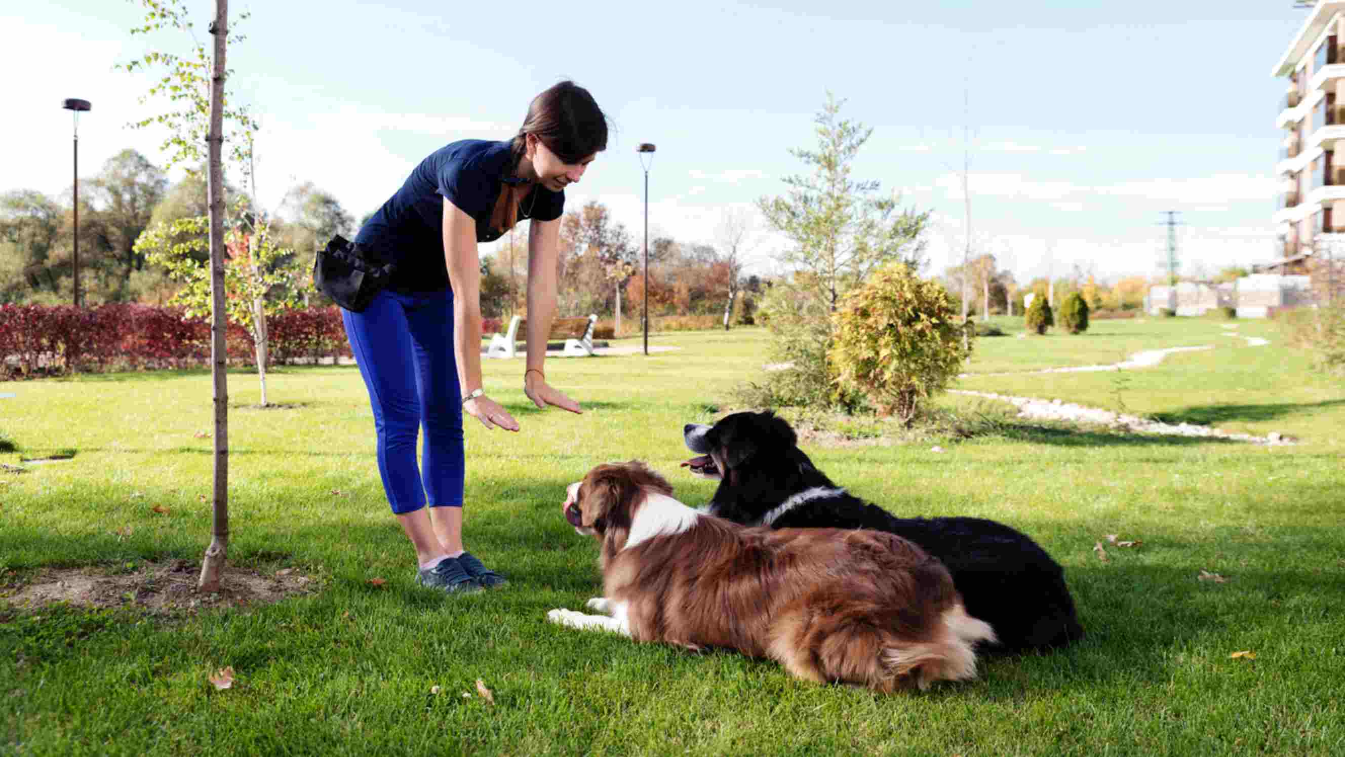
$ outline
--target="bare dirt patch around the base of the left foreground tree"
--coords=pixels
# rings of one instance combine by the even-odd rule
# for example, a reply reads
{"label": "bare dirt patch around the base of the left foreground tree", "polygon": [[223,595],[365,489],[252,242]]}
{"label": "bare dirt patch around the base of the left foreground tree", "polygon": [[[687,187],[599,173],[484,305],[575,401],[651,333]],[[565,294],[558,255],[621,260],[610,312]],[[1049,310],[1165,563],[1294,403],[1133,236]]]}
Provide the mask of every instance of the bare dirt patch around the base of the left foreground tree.
{"label": "bare dirt patch around the base of the left foreground tree", "polygon": [[317,581],[295,567],[262,573],[225,567],[219,592],[196,590],[200,563],[137,561],[118,567],[44,567],[0,578],[0,609],[34,610],[56,604],[91,609],[134,609],[147,614],[195,614],[203,609],[242,609],[278,602],[317,589]]}

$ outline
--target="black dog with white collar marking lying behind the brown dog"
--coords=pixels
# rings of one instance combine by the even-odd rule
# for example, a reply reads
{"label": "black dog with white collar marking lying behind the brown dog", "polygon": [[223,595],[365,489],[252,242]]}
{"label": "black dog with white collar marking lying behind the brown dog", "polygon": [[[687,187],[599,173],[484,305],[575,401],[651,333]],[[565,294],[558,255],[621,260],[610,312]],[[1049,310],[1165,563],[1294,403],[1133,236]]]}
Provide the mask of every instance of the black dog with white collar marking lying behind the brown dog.
{"label": "black dog with white collar marking lying behind the brown dog", "polygon": [[818,471],[773,413],[734,413],[713,426],[687,424],[683,463],[718,479],[709,514],[775,528],[870,528],[907,538],[943,561],[967,614],[989,623],[998,645],[1018,652],[1083,639],[1064,571],[1036,542],[982,518],[896,518]]}

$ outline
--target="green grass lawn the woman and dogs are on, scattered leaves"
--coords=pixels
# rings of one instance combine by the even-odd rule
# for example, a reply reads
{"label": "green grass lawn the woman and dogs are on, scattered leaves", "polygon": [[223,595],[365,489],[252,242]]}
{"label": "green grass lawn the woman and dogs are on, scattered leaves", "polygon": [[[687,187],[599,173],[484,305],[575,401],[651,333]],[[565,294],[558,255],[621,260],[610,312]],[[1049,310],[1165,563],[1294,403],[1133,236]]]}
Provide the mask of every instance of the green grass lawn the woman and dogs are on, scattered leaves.
{"label": "green grass lawn the woman and dogs are on, scattered leaves", "polygon": [[[1041,426],[948,395],[946,407],[994,421],[960,441],[804,445],[838,483],[894,512],[995,518],[1032,534],[1075,592],[1080,645],[989,660],[974,683],[894,696],[546,623],[547,609],[580,609],[599,590],[594,545],[560,514],[565,485],[639,457],[682,500],[703,503],[712,483],[678,469],[681,428],[717,417],[734,385],[760,375],[759,329],[656,335],[651,344],[681,350],[648,358],[549,360],[584,415],[537,411],[521,391],[522,360],[487,360],[487,390],[522,432],[467,428],[468,547],[511,580],[471,597],[413,584],[354,367],[273,370],[276,409],[256,407],[256,375],[233,372],[230,559],[295,567],[319,589],[174,617],[5,610],[0,600],[0,754],[1345,753],[1345,390],[1309,374],[1271,324],[1233,323],[1271,344],[1248,347],[1210,320],[1096,321],[1079,336],[982,339],[968,372],[1217,348],[1145,370],[956,386],[1301,444]],[[43,567],[199,561],[208,375],[0,383],[8,391],[0,584],[12,592]],[[59,454],[70,459],[23,464]],[[1104,534],[1143,543],[1108,546],[1104,562],[1093,553]],[[1227,582],[1198,581],[1201,570]],[[1231,658],[1241,651],[1255,659]],[[237,683],[217,691],[207,676],[226,666]],[[476,679],[494,705],[475,695]]]}

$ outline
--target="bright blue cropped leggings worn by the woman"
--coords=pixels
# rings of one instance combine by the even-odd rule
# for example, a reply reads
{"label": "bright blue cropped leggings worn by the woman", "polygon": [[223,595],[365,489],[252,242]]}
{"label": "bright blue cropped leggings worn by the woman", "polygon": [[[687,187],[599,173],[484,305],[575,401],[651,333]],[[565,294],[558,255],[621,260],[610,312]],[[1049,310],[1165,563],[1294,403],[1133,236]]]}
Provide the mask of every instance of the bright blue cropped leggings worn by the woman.
{"label": "bright blue cropped leggings worn by the woman", "polygon": [[[378,472],[393,512],[463,506],[463,399],[453,360],[452,290],[379,292],[360,313],[342,311],[369,387]],[[421,468],[416,433],[424,426]]]}

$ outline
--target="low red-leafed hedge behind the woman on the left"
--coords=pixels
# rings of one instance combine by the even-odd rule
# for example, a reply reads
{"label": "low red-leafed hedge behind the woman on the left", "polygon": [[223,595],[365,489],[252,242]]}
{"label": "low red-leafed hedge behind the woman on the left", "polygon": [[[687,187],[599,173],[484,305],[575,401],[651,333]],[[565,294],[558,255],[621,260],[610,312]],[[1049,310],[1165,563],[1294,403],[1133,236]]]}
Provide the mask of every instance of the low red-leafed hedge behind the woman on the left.
{"label": "low red-leafed hedge behind the woman on the left", "polygon": [[[266,332],[273,363],[351,356],[336,307],[285,311]],[[256,364],[250,331],[230,324],[225,340],[229,364]],[[0,305],[0,379],[208,363],[210,324],[182,308]]]}

